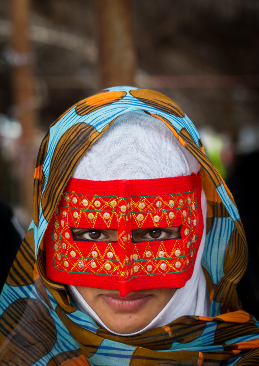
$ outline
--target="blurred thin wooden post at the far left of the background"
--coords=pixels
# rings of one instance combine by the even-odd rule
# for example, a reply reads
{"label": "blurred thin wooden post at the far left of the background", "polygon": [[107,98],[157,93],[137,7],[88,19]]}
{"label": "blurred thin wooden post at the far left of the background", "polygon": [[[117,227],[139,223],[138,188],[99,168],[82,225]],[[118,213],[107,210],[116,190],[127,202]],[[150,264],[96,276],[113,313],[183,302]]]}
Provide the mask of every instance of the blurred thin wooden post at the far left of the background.
{"label": "blurred thin wooden post at the far left of the background", "polygon": [[37,156],[38,113],[35,109],[33,57],[29,41],[30,0],[10,0],[12,21],[10,63],[14,117],[22,125],[22,136],[17,144],[14,166],[20,182],[20,203],[24,209],[24,224],[33,217],[33,179]]}

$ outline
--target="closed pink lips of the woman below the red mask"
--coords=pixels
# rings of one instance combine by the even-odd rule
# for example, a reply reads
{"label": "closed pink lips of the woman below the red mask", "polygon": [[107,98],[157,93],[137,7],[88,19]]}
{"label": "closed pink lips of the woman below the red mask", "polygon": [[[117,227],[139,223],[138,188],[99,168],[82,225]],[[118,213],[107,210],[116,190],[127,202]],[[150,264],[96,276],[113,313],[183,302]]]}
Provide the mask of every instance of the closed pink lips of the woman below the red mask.
{"label": "closed pink lips of the woman below the red mask", "polygon": [[130,294],[120,297],[117,294],[101,295],[103,301],[111,308],[121,311],[135,311],[144,306],[152,297],[145,294]]}

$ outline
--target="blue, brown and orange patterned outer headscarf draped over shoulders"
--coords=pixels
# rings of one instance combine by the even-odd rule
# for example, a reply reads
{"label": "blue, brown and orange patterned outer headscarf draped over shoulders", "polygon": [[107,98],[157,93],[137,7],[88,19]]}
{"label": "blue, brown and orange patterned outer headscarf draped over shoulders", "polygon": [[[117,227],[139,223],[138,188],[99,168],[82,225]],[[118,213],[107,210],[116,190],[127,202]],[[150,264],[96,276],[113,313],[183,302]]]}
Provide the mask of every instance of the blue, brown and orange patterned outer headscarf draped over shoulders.
{"label": "blue, brown and orange patterned outer headscarf draped over shoulders", "polygon": [[[99,328],[71,306],[64,285],[47,279],[44,233],[83,154],[116,118],[134,110],[163,121],[202,167],[199,175],[208,200],[202,266],[211,313],[181,317],[167,326],[124,337]],[[259,324],[241,310],[236,293],[246,265],[246,242],[235,202],[189,118],[155,91],[103,90],[65,112],[41,144],[34,221],[1,295],[1,361],[10,366],[258,365]]]}

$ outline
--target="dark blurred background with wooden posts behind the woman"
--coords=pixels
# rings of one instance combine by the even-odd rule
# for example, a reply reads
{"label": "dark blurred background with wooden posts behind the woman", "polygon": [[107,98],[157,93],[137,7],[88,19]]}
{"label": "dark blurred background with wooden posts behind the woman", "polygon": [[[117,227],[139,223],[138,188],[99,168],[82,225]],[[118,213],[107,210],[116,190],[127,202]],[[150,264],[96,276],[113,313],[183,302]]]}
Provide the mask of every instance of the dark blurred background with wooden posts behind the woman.
{"label": "dark blurred background with wooden posts behind the woman", "polygon": [[259,156],[258,36],[257,0],[2,0],[0,221],[9,233],[3,243],[14,231],[18,243],[31,221],[37,151],[52,122],[102,88],[157,90],[198,127],[234,192],[250,258],[239,291],[259,318],[259,214],[252,193]]}

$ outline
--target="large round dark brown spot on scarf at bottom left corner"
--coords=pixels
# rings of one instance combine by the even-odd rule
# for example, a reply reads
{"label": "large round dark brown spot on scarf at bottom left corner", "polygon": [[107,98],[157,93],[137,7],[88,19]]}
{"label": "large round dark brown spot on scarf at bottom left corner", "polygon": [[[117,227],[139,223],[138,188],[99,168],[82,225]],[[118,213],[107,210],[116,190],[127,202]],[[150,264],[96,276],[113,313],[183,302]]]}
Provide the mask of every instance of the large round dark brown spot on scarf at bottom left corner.
{"label": "large round dark brown spot on scarf at bottom left corner", "polygon": [[39,300],[18,299],[0,318],[0,347],[3,365],[28,366],[51,351],[56,343],[56,326],[48,308]]}

